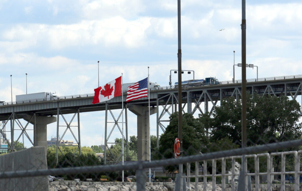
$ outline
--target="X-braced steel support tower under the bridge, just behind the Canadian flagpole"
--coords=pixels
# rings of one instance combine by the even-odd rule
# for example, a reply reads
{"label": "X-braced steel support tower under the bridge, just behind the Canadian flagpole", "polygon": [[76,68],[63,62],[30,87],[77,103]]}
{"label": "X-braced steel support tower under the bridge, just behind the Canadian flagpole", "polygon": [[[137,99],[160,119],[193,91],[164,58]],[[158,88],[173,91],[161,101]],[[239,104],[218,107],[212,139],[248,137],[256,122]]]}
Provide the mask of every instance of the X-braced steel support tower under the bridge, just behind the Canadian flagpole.
{"label": "X-braced steel support tower under the bridge, just behind the Canadian flagpole", "polygon": [[[108,110],[111,114],[111,117],[113,118],[114,122],[108,122],[107,119],[108,119]],[[123,135],[123,131],[121,130],[120,126],[118,123],[122,123],[122,122],[118,122],[120,120],[120,116],[122,116],[123,112],[125,111],[125,126],[126,126],[126,137]],[[108,137],[107,137],[107,124],[108,123],[114,123]],[[117,128],[119,129],[121,135],[122,135],[122,138],[124,137],[124,140],[126,140],[126,142],[124,144],[126,144],[126,158],[128,157],[129,153],[128,153],[128,150],[129,150],[129,142],[128,142],[128,126],[127,126],[127,104],[125,104],[125,107],[123,107],[122,111],[120,112],[120,114],[118,115],[117,119],[114,117],[114,114],[112,113],[108,103],[106,103],[106,109],[105,109],[105,148],[104,148],[104,163],[107,164],[107,150],[109,150],[111,156],[114,158],[114,161],[117,163],[119,160],[120,160],[120,157],[122,156],[122,153],[120,153],[119,157],[116,158],[114,156],[114,154],[111,152],[111,149],[109,148],[108,146],[108,140],[114,130],[114,128],[117,126]],[[115,144],[115,143],[111,143],[111,144]],[[112,162],[112,161],[108,161],[108,162]]]}

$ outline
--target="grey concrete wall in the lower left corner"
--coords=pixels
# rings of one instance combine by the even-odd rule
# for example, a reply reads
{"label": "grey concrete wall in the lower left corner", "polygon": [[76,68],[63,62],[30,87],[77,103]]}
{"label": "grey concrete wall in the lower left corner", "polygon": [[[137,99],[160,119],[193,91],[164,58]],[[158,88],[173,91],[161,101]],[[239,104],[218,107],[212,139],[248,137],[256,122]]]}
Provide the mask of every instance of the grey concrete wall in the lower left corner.
{"label": "grey concrete wall in the lower left corner", "polygon": [[[45,147],[31,147],[0,156],[0,172],[47,169]],[[0,190],[49,191],[47,176],[0,179]]]}

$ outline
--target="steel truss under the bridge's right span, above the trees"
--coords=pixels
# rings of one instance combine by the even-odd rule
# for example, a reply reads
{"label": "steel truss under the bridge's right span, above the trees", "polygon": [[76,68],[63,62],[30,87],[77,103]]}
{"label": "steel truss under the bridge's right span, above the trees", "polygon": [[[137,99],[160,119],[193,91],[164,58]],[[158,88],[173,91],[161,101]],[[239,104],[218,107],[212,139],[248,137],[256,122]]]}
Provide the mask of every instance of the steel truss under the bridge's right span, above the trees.
{"label": "steel truss under the bridge's right span, above the trees", "polygon": [[[209,88],[207,88],[207,87],[209,87]],[[192,103],[195,104],[195,106],[193,107],[193,109],[191,111],[192,114],[194,114],[197,110],[199,110],[201,114],[204,114],[206,111],[209,111],[208,107],[207,107],[208,102],[211,102],[213,105],[209,112],[209,114],[212,114],[218,101],[221,101],[223,98],[227,98],[230,96],[234,96],[236,99],[239,99],[239,96],[240,97],[242,96],[241,88],[239,86],[218,87],[217,90],[219,92],[214,91],[211,93],[210,93],[210,91],[215,90],[212,88],[214,86],[207,86],[207,87],[205,89],[198,90],[201,92],[200,96],[198,96],[198,97],[192,96],[192,98],[191,97],[189,98],[189,96],[191,96],[192,93],[198,92],[198,91],[197,90],[192,90],[192,91],[186,90],[188,97],[187,97],[186,102],[183,102],[184,103],[184,105],[182,107],[183,112],[184,112],[185,105],[187,105],[188,112],[190,112],[191,108],[189,108],[190,107],[189,101],[192,100],[193,101]],[[298,85],[284,83],[283,86],[282,86],[282,84],[275,84],[275,83],[267,83],[267,84],[260,84],[260,85],[255,84],[255,85],[248,86],[247,92],[249,92],[252,95],[254,95],[254,93],[257,93],[261,96],[267,95],[267,94],[279,96],[284,93],[284,95],[291,96],[292,99],[296,99],[298,95],[302,94],[302,82],[298,83]],[[157,98],[157,102],[156,102],[157,108],[159,108],[159,105],[162,105],[162,107],[163,107],[162,111],[159,111],[159,109],[157,110],[157,138],[159,138],[159,128],[161,128],[162,131],[165,132],[165,126],[162,124],[162,122],[169,122],[169,120],[161,120],[162,117],[166,113],[171,115],[171,113],[168,110],[172,107],[172,113],[173,113],[174,112],[173,105],[178,104],[178,99],[175,94],[176,94],[176,92],[171,92],[171,93],[168,93],[163,96],[159,95]],[[214,94],[216,94],[216,95],[214,95]],[[166,98],[167,96],[169,96],[168,99]],[[175,99],[176,101],[174,102],[173,99]],[[165,100],[165,102],[163,102],[162,100]],[[302,101],[302,96],[301,96],[301,101]],[[204,111],[200,108],[200,105],[203,102],[205,103]],[[171,103],[171,105],[169,105],[169,103]],[[302,116],[302,107],[301,107],[300,115]],[[158,140],[157,140],[157,142],[158,142]]]}

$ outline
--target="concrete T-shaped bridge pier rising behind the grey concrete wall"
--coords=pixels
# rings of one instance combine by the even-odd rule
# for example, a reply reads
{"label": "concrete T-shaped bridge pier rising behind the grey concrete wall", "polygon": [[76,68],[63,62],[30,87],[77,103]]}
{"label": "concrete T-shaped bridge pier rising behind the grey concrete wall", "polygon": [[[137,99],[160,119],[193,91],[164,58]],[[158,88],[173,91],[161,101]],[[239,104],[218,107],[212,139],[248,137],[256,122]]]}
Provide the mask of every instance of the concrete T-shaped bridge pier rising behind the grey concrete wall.
{"label": "concrete T-shaped bridge pier rising behind the grey concrete wall", "polygon": [[56,117],[35,116],[30,115],[24,117],[25,121],[34,125],[34,146],[47,147],[47,124],[56,122]]}

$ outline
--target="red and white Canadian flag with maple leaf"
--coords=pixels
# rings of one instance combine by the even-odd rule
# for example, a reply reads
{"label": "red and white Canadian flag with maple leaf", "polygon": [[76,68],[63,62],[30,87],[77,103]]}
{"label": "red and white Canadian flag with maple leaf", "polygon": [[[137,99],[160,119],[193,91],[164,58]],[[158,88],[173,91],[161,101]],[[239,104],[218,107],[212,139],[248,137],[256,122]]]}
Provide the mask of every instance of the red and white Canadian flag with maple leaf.
{"label": "red and white Canadian flag with maple leaf", "polygon": [[95,89],[95,96],[92,100],[93,104],[108,101],[114,97],[120,96],[122,93],[122,77],[118,77],[104,86]]}

